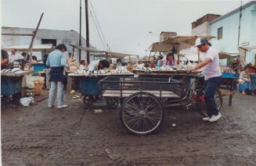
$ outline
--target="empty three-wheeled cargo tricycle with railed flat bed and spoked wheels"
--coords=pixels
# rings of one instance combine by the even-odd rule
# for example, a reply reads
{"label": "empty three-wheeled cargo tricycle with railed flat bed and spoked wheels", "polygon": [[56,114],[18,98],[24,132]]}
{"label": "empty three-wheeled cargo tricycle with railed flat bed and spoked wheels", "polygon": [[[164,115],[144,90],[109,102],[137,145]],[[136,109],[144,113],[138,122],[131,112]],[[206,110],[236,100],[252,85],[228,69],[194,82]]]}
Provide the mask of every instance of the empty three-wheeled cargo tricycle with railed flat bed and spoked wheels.
{"label": "empty three-wheeled cargo tricycle with railed flat bed and spoked wheels", "polygon": [[[152,77],[113,77],[99,81],[101,95],[119,100],[120,120],[128,131],[135,134],[149,134],[160,128],[164,119],[164,108],[189,107],[195,104],[201,115],[205,115],[204,89],[200,79],[184,87],[182,79]],[[218,109],[222,108],[222,95],[215,94]]]}

